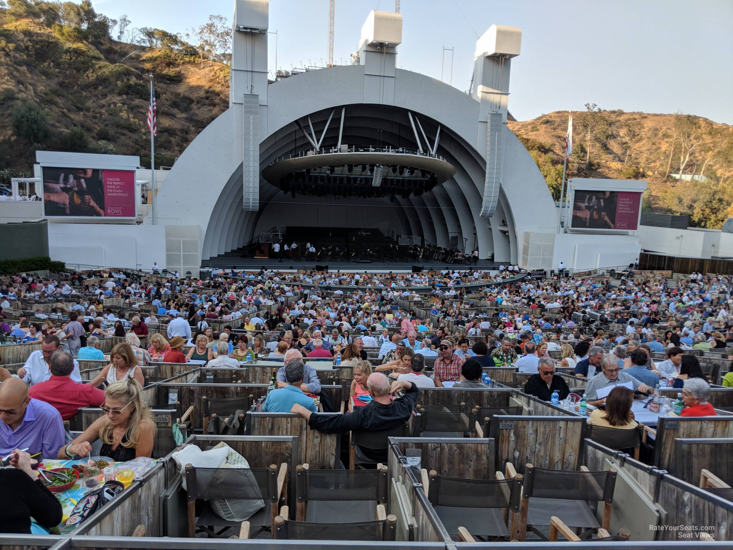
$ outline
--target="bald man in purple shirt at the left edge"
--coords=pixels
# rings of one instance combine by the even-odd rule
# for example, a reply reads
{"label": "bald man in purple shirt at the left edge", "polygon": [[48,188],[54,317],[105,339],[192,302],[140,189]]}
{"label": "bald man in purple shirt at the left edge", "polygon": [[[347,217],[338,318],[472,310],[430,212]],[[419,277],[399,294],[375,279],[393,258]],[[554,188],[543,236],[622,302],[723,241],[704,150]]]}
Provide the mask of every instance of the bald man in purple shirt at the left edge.
{"label": "bald man in purple shirt at the left edge", "polygon": [[28,397],[21,378],[0,385],[0,455],[27,448],[32,455],[58,458],[64,443],[64,422],[54,406]]}

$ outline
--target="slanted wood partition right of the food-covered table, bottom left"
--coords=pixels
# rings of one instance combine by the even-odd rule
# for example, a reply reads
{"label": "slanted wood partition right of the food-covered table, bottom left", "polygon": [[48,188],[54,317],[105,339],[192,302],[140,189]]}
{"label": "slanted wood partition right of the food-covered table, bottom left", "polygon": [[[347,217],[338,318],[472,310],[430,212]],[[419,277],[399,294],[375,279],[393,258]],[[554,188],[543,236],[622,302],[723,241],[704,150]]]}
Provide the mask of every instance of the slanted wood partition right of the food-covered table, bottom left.
{"label": "slanted wood partition right of the food-covered table, bottom left", "polygon": [[166,467],[161,461],[87,518],[74,535],[130,537],[142,524],[150,537],[162,537],[161,494],[165,488]]}

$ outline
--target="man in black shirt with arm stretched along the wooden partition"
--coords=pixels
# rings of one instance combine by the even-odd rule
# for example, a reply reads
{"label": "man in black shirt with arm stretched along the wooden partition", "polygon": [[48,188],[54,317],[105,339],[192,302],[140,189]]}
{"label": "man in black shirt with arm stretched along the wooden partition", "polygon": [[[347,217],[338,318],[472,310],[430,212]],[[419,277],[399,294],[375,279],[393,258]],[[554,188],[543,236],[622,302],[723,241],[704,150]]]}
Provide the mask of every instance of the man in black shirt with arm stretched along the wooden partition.
{"label": "man in black shirt with arm stretched along the wooden partition", "polygon": [[[354,407],[350,414],[313,414],[307,408],[292,406],[290,412],[300,414],[308,420],[308,425],[323,433],[348,432],[350,430],[383,431],[397,428],[410,418],[413,407],[420,395],[419,389],[412,382],[394,381],[391,383],[383,373],[372,373],[367,378],[367,388],[372,402],[367,406]],[[390,394],[400,389],[405,393],[402,397],[391,400]],[[369,460],[386,463],[387,447],[384,449],[364,449],[358,451]],[[371,452],[370,452],[371,451]]]}

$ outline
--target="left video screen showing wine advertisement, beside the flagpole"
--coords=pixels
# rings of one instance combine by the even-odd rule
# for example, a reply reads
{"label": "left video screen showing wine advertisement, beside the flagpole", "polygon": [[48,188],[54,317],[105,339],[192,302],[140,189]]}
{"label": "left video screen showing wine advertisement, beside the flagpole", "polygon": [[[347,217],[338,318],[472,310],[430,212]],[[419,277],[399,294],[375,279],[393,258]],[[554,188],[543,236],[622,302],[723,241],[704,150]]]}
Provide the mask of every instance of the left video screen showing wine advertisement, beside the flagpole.
{"label": "left video screen showing wine advertisement, beside the flagpole", "polygon": [[134,218],[135,172],[43,166],[45,216]]}

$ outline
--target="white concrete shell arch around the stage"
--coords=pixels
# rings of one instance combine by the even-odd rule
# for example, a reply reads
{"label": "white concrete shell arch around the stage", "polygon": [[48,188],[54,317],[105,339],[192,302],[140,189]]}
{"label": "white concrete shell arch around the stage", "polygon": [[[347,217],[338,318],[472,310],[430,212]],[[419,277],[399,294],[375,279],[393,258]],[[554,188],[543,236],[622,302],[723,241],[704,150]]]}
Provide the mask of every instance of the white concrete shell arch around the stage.
{"label": "white concrete shell arch around the stage", "polygon": [[[385,77],[383,77],[385,78]],[[441,125],[438,155],[456,168],[454,177],[421,197],[291,199],[260,178],[259,210],[242,208],[242,164],[235,166],[234,109],[205,128],[174,164],[158,192],[161,224],[197,225],[202,260],[236,249],[273,225],[318,227],[380,227],[447,246],[449,235],[460,234],[466,248],[497,261],[517,262],[524,232],[553,233],[556,208],[537,165],[506,126],[502,134],[501,191],[495,215],[480,218],[484,188],[485,151],[476,149],[485,124],[479,102],[440,81],[407,70],[395,70],[391,86],[375,91],[367,86],[364,65],[329,67],[285,78],[267,87],[260,98],[260,169],[280,155],[312,148],[295,125],[311,115],[318,135],[336,109],[322,146],[336,144],[338,119],[346,106],[342,142],[384,144],[401,140],[416,147],[409,124],[394,113],[411,111],[434,139]],[[405,117],[406,120],[406,117]],[[334,135],[335,132],[335,135]],[[502,227],[502,221],[507,222]],[[476,238],[474,241],[474,228]],[[460,241],[463,245],[463,241]]]}

